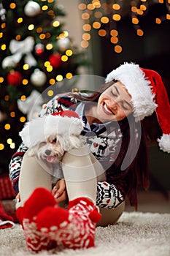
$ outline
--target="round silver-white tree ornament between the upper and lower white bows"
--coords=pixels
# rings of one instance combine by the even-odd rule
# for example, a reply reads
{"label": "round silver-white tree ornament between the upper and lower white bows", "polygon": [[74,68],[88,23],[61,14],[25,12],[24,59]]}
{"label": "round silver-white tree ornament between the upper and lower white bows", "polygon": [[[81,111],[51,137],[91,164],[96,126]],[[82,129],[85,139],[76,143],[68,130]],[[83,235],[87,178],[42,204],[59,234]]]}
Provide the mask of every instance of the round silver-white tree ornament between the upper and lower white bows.
{"label": "round silver-white tree ornament between the upper and lower white bows", "polygon": [[30,78],[31,83],[37,87],[44,86],[46,80],[47,77],[45,73],[42,72],[40,69],[35,69]]}

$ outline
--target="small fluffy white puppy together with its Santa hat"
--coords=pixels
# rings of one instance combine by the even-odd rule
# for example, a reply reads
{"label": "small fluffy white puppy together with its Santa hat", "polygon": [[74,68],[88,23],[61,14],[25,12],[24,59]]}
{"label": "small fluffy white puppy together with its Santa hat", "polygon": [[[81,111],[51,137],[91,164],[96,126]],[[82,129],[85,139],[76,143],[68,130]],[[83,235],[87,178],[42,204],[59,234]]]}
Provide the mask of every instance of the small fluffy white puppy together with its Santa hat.
{"label": "small fluffy white puppy together with its Santa hat", "polygon": [[55,163],[66,151],[83,145],[80,135],[83,127],[77,113],[66,110],[27,122],[19,134],[29,148],[30,157]]}

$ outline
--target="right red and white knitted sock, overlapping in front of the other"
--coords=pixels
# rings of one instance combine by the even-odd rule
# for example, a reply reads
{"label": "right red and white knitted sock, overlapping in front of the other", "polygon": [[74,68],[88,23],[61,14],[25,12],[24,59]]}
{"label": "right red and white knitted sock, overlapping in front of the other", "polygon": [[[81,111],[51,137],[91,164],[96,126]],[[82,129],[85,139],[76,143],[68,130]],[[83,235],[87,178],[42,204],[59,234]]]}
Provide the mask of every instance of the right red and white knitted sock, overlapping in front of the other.
{"label": "right red and white knitted sock, overlapping in front of the other", "polygon": [[69,202],[68,210],[47,207],[36,217],[36,224],[47,238],[67,248],[94,246],[96,223],[100,220],[96,206],[86,197]]}

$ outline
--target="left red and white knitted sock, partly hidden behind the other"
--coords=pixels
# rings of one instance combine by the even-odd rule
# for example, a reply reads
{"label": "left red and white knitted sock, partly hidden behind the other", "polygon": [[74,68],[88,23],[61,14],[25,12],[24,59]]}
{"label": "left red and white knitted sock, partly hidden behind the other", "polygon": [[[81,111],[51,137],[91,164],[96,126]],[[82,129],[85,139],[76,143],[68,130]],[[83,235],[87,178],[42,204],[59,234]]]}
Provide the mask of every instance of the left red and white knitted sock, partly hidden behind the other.
{"label": "left red and white knitted sock, partly hidden behind the other", "polygon": [[26,244],[31,252],[53,249],[56,241],[44,236],[36,226],[36,214],[47,206],[55,206],[56,201],[50,191],[44,188],[35,189],[23,207],[16,211],[17,217],[25,232]]}

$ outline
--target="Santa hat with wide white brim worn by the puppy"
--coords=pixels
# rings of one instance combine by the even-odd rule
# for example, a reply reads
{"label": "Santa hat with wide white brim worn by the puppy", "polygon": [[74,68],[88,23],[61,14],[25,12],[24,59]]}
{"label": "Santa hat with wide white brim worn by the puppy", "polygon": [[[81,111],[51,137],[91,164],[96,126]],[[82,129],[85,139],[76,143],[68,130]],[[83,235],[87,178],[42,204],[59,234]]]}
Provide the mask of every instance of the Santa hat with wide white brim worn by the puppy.
{"label": "Santa hat with wide white brim worn by the puppy", "polygon": [[78,136],[82,132],[83,127],[84,123],[77,113],[65,110],[27,122],[19,135],[24,145],[30,148],[37,143],[47,141],[50,136],[52,138],[55,138],[57,135]]}

